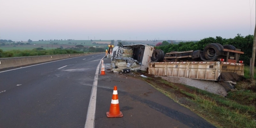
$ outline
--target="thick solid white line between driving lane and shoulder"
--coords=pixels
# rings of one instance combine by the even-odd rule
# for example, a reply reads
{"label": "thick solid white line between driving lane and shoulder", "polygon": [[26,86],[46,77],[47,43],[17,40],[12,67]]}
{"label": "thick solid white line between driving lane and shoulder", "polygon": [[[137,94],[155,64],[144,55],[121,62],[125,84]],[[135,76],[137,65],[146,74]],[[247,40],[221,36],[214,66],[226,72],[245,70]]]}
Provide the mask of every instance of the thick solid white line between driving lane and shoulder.
{"label": "thick solid white line between driving lane and shoulder", "polygon": [[101,61],[99,62],[98,66],[97,66],[96,73],[95,73],[95,76],[94,76],[93,87],[91,89],[91,97],[90,97],[89,107],[88,107],[88,110],[87,110],[87,116],[86,116],[86,122],[85,122],[84,128],[94,128],[97,85],[98,85],[99,65],[100,64],[101,64]]}

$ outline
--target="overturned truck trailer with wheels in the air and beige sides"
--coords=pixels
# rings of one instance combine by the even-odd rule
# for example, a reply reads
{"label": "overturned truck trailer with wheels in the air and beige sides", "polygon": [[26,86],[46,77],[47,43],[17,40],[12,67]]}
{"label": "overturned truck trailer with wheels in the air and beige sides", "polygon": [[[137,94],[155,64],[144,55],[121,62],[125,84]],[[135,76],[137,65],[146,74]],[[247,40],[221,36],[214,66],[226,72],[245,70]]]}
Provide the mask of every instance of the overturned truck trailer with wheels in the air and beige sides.
{"label": "overturned truck trailer with wheels in the air and beige sides", "polygon": [[216,80],[222,72],[244,75],[244,64],[239,60],[241,49],[232,45],[208,44],[203,51],[171,51],[164,54],[155,49],[148,73],[157,76],[176,76],[191,79]]}

